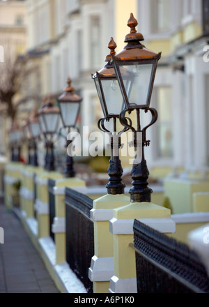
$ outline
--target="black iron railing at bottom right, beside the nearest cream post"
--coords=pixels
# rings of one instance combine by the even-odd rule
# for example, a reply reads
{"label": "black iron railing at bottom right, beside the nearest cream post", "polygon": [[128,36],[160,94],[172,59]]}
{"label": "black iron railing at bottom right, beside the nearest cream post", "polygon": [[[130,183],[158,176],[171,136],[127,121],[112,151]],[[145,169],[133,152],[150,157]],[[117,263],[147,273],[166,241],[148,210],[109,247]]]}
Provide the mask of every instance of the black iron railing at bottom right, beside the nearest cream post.
{"label": "black iron railing at bottom right, beside the nearest cream post", "polygon": [[209,278],[185,244],[134,220],[138,293],[208,293]]}

